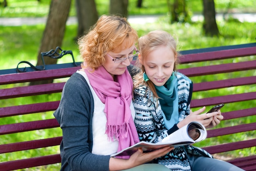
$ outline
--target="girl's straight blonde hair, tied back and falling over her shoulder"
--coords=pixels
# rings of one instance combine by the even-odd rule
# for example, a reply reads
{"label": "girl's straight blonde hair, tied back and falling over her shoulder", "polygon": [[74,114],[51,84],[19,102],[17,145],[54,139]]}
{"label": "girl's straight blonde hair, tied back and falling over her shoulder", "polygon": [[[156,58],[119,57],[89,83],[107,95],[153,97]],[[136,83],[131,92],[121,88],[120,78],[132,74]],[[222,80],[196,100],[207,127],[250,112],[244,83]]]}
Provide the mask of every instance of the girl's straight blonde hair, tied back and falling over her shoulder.
{"label": "girl's straight blonde hair, tied back and falling over her shoulder", "polygon": [[[137,63],[140,63],[141,65],[141,72],[138,73],[136,76],[134,76],[134,88],[138,88],[142,84],[146,84],[150,90],[153,92],[153,96],[156,98],[159,98],[159,96],[156,93],[155,90],[155,85],[151,80],[148,80],[147,82],[144,81],[143,79],[143,73],[145,72],[145,67],[142,65],[142,61],[148,54],[156,49],[159,46],[167,46],[170,48],[175,57],[177,58],[180,56],[180,54],[177,52],[177,42],[171,36],[168,32],[166,31],[161,31],[161,30],[156,30],[156,31],[150,31],[148,34],[141,36],[138,40],[138,45],[139,45],[139,58]],[[158,56],[156,58],[159,58]],[[159,60],[161,60],[159,58]],[[177,64],[179,63],[178,58],[176,59],[174,63],[174,68],[173,70],[176,71]]]}

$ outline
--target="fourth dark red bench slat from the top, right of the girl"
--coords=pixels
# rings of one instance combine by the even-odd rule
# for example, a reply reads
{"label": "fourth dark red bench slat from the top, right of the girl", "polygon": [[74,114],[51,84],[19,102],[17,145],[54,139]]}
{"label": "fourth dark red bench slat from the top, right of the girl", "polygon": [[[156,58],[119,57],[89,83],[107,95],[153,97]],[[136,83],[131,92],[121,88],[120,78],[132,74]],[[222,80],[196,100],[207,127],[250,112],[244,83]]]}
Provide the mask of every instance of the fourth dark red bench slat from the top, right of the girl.
{"label": "fourth dark red bench slat from the top, right of the girl", "polygon": [[256,99],[256,92],[250,93],[241,93],[241,94],[232,94],[232,95],[223,95],[211,98],[202,98],[202,99],[193,99],[191,100],[190,106],[193,107],[202,107],[210,106],[220,103],[231,103],[231,102],[241,102],[246,100]]}

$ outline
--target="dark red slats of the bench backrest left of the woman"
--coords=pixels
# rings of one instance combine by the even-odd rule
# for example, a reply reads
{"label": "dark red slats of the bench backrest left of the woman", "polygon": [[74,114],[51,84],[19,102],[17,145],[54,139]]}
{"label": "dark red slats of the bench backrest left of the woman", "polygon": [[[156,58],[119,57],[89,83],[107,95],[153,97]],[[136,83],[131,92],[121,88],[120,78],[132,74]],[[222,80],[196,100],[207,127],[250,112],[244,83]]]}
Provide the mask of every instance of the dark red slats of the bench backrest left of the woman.
{"label": "dark red slats of the bench backrest left of the woman", "polygon": [[[40,84],[29,86],[28,82],[38,81],[38,80],[49,80],[57,78],[67,78],[72,75],[80,67],[64,68],[64,69],[50,69],[44,71],[33,71],[25,73],[12,73],[0,75],[0,84],[17,84],[12,86],[12,88],[3,88],[0,89],[0,99],[11,99],[11,98],[20,98],[27,96],[35,96],[40,98],[38,95],[43,94],[52,94],[52,93],[61,93],[65,82],[54,82],[51,84]],[[24,83],[20,85],[20,83]],[[37,96],[36,96],[37,95]],[[57,109],[59,100],[52,101],[51,99],[45,100],[45,102],[40,103],[31,103],[18,106],[8,106],[0,107],[0,120],[3,118],[11,118],[16,115],[44,115],[47,111],[52,111]],[[33,117],[33,116],[32,116]],[[33,120],[33,121],[22,121],[19,123],[5,124],[1,121],[0,125],[0,135],[7,135],[18,133],[22,136],[22,132],[50,129],[59,127],[58,122],[52,116],[49,119]],[[34,134],[34,132],[32,132]],[[17,136],[19,136],[17,135]],[[46,136],[47,137],[47,136]],[[29,140],[26,142],[14,142],[10,144],[1,144],[0,153],[11,153],[15,151],[25,151],[30,149],[38,149],[45,147],[58,146],[62,140],[61,135],[58,137],[51,137],[38,140]],[[38,154],[40,156],[40,153]],[[22,156],[20,156],[22,157]],[[16,161],[9,161],[0,163],[0,168],[5,168],[6,170],[22,169],[27,167],[36,167],[47,164],[54,164],[61,162],[59,154],[47,155],[37,158],[27,158]],[[1,170],[1,169],[0,169]]]}

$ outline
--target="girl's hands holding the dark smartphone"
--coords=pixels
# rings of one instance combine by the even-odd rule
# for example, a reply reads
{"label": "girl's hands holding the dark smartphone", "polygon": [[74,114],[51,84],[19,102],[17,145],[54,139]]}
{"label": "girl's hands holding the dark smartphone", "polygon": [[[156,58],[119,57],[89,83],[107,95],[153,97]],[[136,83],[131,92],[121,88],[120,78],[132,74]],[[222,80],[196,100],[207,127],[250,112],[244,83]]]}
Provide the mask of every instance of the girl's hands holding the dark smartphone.
{"label": "girl's hands holding the dark smartphone", "polygon": [[194,112],[190,111],[190,114],[187,115],[186,118],[184,118],[184,120],[180,121],[177,124],[177,127],[181,128],[186,124],[189,124],[190,122],[197,121],[203,124],[204,127],[210,128],[210,127],[215,127],[216,124],[219,124],[220,120],[223,119],[223,116],[221,115],[220,111],[201,114],[204,110],[205,110],[205,107],[202,107],[201,109]]}

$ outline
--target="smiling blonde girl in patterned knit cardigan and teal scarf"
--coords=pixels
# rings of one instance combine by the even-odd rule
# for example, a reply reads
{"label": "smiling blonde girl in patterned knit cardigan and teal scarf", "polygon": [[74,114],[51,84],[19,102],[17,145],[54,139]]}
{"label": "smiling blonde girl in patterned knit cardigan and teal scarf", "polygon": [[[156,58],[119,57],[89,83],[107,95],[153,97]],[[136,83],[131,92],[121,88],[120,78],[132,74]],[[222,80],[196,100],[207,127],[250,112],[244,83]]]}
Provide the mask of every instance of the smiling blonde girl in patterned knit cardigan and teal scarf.
{"label": "smiling blonde girl in patterned knit cardigan and teal scarf", "polygon": [[[192,81],[176,71],[175,39],[166,31],[151,31],[138,40],[141,72],[134,77],[135,125],[139,139],[159,142],[192,121],[206,128],[219,124],[220,111],[202,114],[205,109],[190,111]],[[196,138],[196,130],[191,130]],[[173,171],[241,171],[242,169],[213,157],[198,147],[186,145],[152,162]]]}

